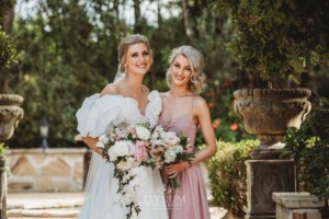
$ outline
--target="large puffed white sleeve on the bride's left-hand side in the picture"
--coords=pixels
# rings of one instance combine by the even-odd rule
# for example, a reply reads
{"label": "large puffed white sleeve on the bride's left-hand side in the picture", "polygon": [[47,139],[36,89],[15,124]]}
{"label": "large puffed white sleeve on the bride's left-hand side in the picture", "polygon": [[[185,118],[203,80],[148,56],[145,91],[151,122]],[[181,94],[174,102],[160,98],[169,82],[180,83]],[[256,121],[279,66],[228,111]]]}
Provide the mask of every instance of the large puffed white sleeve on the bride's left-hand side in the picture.
{"label": "large puffed white sleeve on the bride's left-hand side in the picture", "polygon": [[136,123],[136,118],[140,116],[138,111],[134,111],[136,104],[121,95],[93,94],[84,99],[76,114],[77,129],[81,137],[95,138],[118,124]]}

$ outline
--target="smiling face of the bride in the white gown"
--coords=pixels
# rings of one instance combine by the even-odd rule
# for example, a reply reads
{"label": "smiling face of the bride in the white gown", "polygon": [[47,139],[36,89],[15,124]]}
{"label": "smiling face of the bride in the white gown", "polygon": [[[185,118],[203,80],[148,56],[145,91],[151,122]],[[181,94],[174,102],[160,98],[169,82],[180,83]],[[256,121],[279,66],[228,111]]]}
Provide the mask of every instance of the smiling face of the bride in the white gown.
{"label": "smiling face of the bride in the white gown", "polygon": [[145,74],[151,66],[151,55],[143,44],[131,45],[127,49],[125,67],[128,73]]}

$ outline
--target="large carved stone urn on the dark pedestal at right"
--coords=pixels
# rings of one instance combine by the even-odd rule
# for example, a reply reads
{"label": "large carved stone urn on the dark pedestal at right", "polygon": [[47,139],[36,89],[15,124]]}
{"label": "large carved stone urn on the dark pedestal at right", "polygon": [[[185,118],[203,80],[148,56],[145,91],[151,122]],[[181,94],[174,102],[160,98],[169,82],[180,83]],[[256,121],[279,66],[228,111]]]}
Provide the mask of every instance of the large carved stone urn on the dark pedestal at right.
{"label": "large carved stone urn on the dark pedestal at right", "polygon": [[299,128],[310,112],[308,89],[240,89],[234,92],[235,110],[260,145],[252,159],[279,159],[287,128]]}

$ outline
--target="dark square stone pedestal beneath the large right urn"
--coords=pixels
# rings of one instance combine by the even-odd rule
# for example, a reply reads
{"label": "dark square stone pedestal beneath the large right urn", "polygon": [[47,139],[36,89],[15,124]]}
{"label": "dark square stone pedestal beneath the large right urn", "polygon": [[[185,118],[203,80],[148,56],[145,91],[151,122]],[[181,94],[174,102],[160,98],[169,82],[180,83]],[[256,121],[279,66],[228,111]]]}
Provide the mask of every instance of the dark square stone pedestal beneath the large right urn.
{"label": "dark square stone pedestal beneath the large right urn", "polygon": [[292,160],[248,160],[247,215],[245,219],[275,219],[273,192],[295,192]]}

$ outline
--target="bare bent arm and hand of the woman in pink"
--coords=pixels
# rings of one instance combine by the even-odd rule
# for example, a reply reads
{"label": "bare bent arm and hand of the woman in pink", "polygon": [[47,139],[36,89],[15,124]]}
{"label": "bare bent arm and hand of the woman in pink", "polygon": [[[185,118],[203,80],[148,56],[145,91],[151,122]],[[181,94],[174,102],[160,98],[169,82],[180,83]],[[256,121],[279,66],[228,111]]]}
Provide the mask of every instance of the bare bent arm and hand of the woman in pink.
{"label": "bare bent arm and hand of the woman in pink", "polygon": [[[198,96],[194,101],[193,107],[194,107],[195,117],[198,120],[202,135],[206,143],[206,147],[201,151],[198,151],[197,153],[195,153],[195,157],[192,160],[191,164],[196,164],[214,155],[217,151],[217,147],[216,147],[216,136],[212,125],[211,112],[206,101],[201,96]],[[168,175],[174,177],[177,173],[190,168],[191,164],[188,161],[172,164],[166,168],[166,172]]]}

